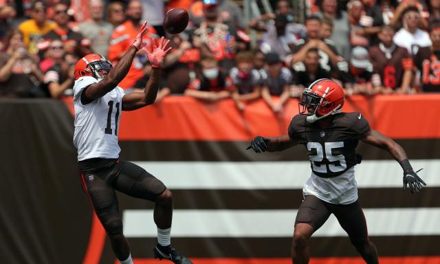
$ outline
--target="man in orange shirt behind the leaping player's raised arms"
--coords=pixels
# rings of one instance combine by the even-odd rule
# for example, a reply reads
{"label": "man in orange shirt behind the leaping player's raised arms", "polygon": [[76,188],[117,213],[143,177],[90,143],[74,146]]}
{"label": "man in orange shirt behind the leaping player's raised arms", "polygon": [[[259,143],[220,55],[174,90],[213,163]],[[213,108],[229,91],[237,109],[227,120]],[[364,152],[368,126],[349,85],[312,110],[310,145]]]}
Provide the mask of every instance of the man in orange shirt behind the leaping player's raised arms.
{"label": "man in orange shirt behind the leaping player's raised arms", "polygon": [[[126,7],[125,16],[127,20],[115,28],[111,34],[108,58],[113,65],[118,63],[122,55],[128,50],[137,35],[137,31],[142,26],[142,2],[139,0],[130,1],[129,5]],[[154,41],[155,37],[157,37],[156,30],[149,26],[148,32],[144,36],[144,42],[149,43]],[[133,63],[131,64],[129,73],[124,80],[119,83],[120,87],[123,89],[129,89],[135,85],[136,80],[140,79],[144,74],[142,63],[146,61],[146,59],[145,54],[137,52],[133,59]]]}

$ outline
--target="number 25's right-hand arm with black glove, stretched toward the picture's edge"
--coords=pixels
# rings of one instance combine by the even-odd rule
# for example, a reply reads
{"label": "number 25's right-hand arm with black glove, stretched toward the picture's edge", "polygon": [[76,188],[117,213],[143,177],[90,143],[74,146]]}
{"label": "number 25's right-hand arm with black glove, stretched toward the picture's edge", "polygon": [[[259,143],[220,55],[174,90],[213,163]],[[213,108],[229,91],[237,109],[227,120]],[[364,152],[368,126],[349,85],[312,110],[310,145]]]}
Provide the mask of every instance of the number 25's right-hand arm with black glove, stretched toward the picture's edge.
{"label": "number 25's right-hand arm with black glove, stretched toward the picture's edge", "polygon": [[381,133],[371,130],[366,133],[364,137],[361,139],[363,142],[371,144],[373,146],[377,146],[378,148],[382,148],[388,151],[394,159],[396,159],[401,168],[404,170],[404,190],[406,190],[406,186],[410,187],[411,193],[421,191],[421,184],[426,186],[425,181],[417,175],[417,172],[414,172],[412,166],[408,160],[408,156],[399,144],[397,144],[390,137],[382,135]]}

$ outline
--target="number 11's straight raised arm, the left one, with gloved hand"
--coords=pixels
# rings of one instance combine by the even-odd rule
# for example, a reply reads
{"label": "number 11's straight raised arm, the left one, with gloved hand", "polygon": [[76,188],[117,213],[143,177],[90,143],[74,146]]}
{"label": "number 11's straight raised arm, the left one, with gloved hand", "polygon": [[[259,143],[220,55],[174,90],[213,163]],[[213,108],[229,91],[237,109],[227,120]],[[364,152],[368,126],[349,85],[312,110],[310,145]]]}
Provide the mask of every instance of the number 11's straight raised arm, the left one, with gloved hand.
{"label": "number 11's straight raised arm, the left one, with gloved hand", "polygon": [[129,47],[129,50],[125,52],[124,56],[120,58],[118,64],[116,64],[115,67],[111,69],[109,74],[99,83],[90,85],[89,87],[87,87],[87,89],[85,89],[85,91],[83,92],[83,96],[85,96],[84,99],[87,102],[91,102],[97,98],[104,96],[109,91],[117,87],[118,83],[120,83],[121,80],[124,79],[126,74],[129,72],[131,63],[133,63],[133,58],[135,58],[137,51],[140,50],[144,45],[142,43],[142,38],[147,31],[148,26],[146,25],[145,21],[144,25],[142,25],[139,32],[137,33],[135,41]]}

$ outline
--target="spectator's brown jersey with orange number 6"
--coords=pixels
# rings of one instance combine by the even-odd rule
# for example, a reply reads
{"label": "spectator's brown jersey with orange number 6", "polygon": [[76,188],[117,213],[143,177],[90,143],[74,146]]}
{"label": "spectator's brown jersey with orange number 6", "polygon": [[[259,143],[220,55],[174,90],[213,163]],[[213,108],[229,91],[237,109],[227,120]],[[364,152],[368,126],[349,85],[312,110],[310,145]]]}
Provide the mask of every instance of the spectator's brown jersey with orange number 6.
{"label": "spectator's brown jersey with orange number 6", "polygon": [[380,75],[380,84],[374,85],[382,85],[392,89],[401,86],[404,71],[413,67],[412,58],[404,47],[396,47],[387,58],[386,53],[380,50],[378,45],[375,45],[370,48],[370,59],[375,74]]}

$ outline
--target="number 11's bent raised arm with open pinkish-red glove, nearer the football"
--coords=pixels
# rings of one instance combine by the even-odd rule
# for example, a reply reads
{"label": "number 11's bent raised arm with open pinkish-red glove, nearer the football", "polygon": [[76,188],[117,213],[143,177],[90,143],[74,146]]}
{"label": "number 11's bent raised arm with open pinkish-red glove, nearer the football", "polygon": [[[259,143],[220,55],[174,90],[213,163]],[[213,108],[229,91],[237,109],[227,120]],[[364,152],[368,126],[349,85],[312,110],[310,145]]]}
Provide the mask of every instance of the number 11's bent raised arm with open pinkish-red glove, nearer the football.
{"label": "number 11's bent raised arm with open pinkish-red glove, nearer the football", "polygon": [[151,72],[150,79],[146,83],[146,87],[143,93],[133,92],[127,94],[122,98],[122,110],[132,111],[146,107],[149,104],[153,104],[157,96],[157,90],[159,89],[161,67],[164,63],[165,55],[171,50],[168,47],[170,41],[162,38],[159,40],[159,44],[156,45],[155,41],[149,43],[144,47],[148,61],[150,61],[153,71]]}

